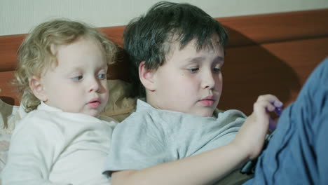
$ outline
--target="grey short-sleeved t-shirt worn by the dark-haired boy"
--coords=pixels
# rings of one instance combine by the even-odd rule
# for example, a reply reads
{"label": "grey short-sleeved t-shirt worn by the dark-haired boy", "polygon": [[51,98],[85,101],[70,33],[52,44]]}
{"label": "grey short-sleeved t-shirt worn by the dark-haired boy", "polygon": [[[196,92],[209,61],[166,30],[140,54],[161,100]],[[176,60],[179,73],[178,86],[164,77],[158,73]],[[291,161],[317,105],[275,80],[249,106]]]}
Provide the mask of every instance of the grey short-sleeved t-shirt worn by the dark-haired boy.
{"label": "grey short-sleeved t-shirt worn by the dark-haired boy", "polygon": [[104,171],[140,170],[223,146],[234,139],[245,118],[238,110],[201,117],[137,100],[136,111],[114,129]]}

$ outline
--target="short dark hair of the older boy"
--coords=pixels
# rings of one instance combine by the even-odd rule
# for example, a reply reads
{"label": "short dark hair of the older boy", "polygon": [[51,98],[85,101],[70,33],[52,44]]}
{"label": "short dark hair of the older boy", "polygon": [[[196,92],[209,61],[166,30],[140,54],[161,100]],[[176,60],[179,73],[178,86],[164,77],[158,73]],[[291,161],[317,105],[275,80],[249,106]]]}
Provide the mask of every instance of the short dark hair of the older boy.
{"label": "short dark hair of the older boy", "polygon": [[156,70],[164,64],[175,41],[181,50],[195,39],[196,48],[200,50],[213,47],[213,34],[217,34],[221,46],[226,46],[228,34],[224,27],[191,4],[160,1],[146,15],[131,20],[124,30],[123,41],[130,59],[132,85],[136,89],[133,96],[145,96],[138,74],[140,62],[145,62],[146,69]]}

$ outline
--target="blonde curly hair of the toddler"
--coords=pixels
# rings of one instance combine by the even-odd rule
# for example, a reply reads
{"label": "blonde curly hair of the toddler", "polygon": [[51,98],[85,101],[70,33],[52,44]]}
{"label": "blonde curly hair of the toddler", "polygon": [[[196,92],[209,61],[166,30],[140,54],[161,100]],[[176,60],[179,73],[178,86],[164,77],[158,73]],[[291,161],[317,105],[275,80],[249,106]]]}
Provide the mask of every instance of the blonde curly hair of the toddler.
{"label": "blonde curly hair of the toddler", "polygon": [[33,76],[41,77],[48,67],[57,66],[57,58],[51,48],[73,43],[86,37],[100,43],[107,64],[116,60],[117,47],[95,27],[83,22],[71,20],[50,20],[35,27],[18,48],[18,67],[13,84],[17,86],[22,96],[20,104],[29,112],[40,104],[34,96],[29,82]]}

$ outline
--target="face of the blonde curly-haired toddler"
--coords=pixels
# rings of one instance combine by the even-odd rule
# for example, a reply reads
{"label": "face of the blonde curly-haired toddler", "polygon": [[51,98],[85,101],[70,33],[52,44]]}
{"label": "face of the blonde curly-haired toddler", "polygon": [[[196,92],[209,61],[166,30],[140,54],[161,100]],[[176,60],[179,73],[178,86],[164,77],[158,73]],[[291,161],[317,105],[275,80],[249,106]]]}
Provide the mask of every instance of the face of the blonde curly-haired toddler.
{"label": "face of the blonde curly-haired toddler", "polygon": [[107,62],[98,43],[78,39],[57,47],[58,65],[41,77],[43,102],[62,111],[97,116],[107,104]]}

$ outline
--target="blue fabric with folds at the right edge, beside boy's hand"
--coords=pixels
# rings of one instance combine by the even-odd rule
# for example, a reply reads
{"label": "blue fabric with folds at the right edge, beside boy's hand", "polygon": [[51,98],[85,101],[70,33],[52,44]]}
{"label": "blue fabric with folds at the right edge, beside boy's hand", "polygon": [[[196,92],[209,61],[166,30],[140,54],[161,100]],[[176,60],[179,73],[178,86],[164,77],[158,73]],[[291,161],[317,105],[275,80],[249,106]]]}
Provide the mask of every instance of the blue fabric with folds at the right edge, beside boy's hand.
{"label": "blue fabric with folds at the right edge, beside boy's hand", "polygon": [[245,184],[328,184],[328,58],[310,75]]}

